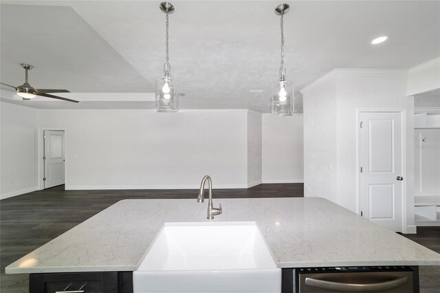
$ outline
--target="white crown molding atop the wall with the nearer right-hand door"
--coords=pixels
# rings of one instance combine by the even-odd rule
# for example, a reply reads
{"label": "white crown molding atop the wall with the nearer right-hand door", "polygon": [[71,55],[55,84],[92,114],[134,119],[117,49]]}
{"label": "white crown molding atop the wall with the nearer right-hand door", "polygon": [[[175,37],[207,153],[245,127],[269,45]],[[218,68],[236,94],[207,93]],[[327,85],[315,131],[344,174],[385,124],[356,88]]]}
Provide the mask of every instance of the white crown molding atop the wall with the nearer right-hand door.
{"label": "white crown molding atop the wall with the nearer right-hand door", "polygon": [[300,90],[301,94],[304,94],[309,89],[316,87],[316,85],[331,78],[332,76],[406,76],[408,74],[407,69],[347,69],[347,68],[335,68],[328,74],[321,76],[307,87]]}

